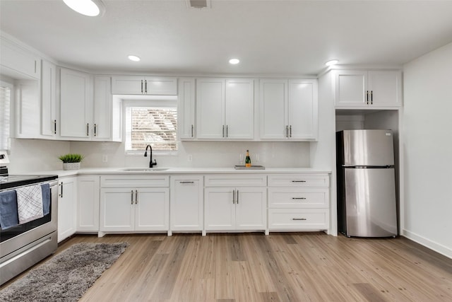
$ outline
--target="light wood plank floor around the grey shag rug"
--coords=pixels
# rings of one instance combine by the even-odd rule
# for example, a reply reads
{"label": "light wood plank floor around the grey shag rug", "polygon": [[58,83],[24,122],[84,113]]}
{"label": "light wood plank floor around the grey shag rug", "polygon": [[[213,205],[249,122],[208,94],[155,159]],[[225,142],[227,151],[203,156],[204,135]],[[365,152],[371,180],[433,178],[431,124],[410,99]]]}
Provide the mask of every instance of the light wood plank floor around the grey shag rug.
{"label": "light wood plank floor around the grey shag rug", "polygon": [[121,241],[129,248],[80,301],[452,301],[452,260],[406,238],[75,236],[57,252]]}

